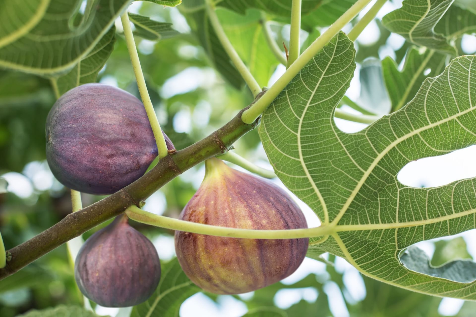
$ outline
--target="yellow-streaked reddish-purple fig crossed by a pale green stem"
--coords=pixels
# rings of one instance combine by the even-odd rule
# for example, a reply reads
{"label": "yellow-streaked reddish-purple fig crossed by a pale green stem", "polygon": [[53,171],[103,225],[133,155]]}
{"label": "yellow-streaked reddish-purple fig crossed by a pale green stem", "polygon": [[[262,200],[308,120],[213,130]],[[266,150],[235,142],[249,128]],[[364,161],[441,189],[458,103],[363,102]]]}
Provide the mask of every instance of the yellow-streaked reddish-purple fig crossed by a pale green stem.
{"label": "yellow-streaked reddish-purple fig crossed by a pale green stem", "polygon": [[[205,162],[205,178],[180,219],[210,225],[258,229],[307,228],[297,204],[277,185],[228,167]],[[308,239],[241,239],[175,232],[178,261],[200,288],[240,294],[292,274],[306,256]]]}

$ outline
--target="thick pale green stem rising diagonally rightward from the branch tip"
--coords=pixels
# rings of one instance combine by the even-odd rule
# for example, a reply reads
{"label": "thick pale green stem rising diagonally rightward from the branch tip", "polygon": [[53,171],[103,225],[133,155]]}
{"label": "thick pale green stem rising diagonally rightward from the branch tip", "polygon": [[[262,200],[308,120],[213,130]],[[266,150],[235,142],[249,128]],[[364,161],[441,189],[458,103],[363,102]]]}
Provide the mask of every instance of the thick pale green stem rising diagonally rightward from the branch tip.
{"label": "thick pale green stem rising diagonally rightward from the branch tip", "polygon": [[316,54],[323,48],[332,38],[334,38],[337,33],[352,19],[354,19],[357,14],[364,9],[367,4],[372,0],[357,0],[356,3],[349,8],[339,19],[336,20],[324,33],[321,34],[295,61],[291,66],[284,72],[281,77],[276,81],[276,83],[271,86],[266,93],[259,98],[256,103],[246,110],[241,119],[244,123],[251,123],[258,118],[268,106],[273,102],[273,100],[279,95],[281,91],[289,84],[289,82],[296,77],[299,71],[306,66]]}

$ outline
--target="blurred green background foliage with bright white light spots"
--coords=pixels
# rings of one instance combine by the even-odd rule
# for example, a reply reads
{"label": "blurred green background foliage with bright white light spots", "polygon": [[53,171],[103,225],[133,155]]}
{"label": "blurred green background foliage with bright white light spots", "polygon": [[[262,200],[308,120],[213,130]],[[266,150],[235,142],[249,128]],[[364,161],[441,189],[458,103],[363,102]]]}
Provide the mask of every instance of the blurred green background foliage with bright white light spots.
{"label": "blurred green background foliage with bright white light spots", "polygon": [[[183,0],[176,8],[163,8],[152,2],[136,1],[129,10],[155,21],[171,23],[162,25],[164,29],[158,33],[136,25],[136,43],[160,124],[181,149],[228,122],[252,101],[252,96],[210,28],[203,1]],[[281,43],[288,46],[289,21],[286,15],[263,12],[259,6],[245,11],[234,7],[231,0],[222,2],[226,8],[219,8],[217,13],[229,39],[258,83],[268,86],[284,71],[284,66],[267,45],[263,35],[264,23],[269,23],[280,48]],[[323,0],[320,9],[315,11],[315,6],[306,9],[305,5],[303,8],[310,13],[303,17],[302,49],[354,2],[340,1],[343,5],[338,7],[333,6],[332,1]],[[387,10],[398,7],[399,1],[392,5]],[[131,19],[133,22],[148,22],[140,20],[140,16],[131,16]],[[104,61],[107,59],[106,64],[93,73],[99,72],[98,82],[119,86],[139,97],[118,21],[112,32],[115,32],[115,38],[111,33],[103,44],[113,50],[102,56]],[[461,46],[461,39],[456,44],[460,50],[472,53]],[[350,93],[350,97],[365,101],[366,98],[375,98],[375,91],[371,92],[368,87],[377,85],[385,90],[379,64],[375,75],[362,66],[368,63],[365,59],[390,56],[399,64],[409,47],[403,38],[391,35],[379,19],[369,25],[356,44],[360,82],[353,84],[354,95]],[[83,62],[87,63],[86,60]],[[59,90],[66,87],[59,85]],[[10,183],[9,192],[0,194],[0,231],[7,250],[49,228],[71,211],[69,191],[53,178],[45,161],[44,125],[55,99],[50,79],[0,70],[0,176]],[[380,105],[386,106],[389,107],[388,102]],[[241,138],[235,147],[237,153],[258,165],[269,167],[255,131]],[[153,194],[144,209],[178,217],[198,188],[203,173],[203,166],[198,165],[175,178]],[[83,205],[101,198],[83,194]],[[85,233],[83,238],[87,239],[105,225],[107,223]],[[172,231],[138,223],[133,225],[154,242],[161,259],[174,258]],[[434,249],[431,259],[434,266],[454,259],[472,259],[463,238],[436,241]],[[306,259],[303,269],[291,278],[250,294],[217,296],[197,293],[184,302],[180,316],[475,316],[475,303],[465,302],[461,307],[462,302],[457,300],[413,293],[362,277],[356,269],[335,256],[324,254],[320,260]],[[17,316],[32,308],[83,305],[83,300],[74,281],[65,245],[0,281],[1,317]],[[90,304],[95,307],[94,303]],[[117,309],[95,308],[99,315],[115,316],[118,313]]]}

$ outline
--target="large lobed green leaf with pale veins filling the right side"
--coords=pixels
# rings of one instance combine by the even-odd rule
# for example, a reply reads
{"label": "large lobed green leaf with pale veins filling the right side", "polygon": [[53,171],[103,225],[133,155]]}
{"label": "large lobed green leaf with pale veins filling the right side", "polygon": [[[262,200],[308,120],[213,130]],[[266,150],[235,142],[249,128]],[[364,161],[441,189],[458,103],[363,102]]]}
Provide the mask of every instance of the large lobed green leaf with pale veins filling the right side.
{"label": "large lobed green leaf with pale veins filling the right side", "polygon": [[476,227],[476,179],[435,188],[397,180],[411,161],[476,144],[476,57],[454,59],[441,75],[427,78],[407,106],[347,134],[333,115],[354,56],[352,42],[338,34],[273,101],[259,128],[278,177],[327,228],[311,239],[311,248],[391,285],[476,299],[476,282],[418,273],[399,259],[419,241]]}

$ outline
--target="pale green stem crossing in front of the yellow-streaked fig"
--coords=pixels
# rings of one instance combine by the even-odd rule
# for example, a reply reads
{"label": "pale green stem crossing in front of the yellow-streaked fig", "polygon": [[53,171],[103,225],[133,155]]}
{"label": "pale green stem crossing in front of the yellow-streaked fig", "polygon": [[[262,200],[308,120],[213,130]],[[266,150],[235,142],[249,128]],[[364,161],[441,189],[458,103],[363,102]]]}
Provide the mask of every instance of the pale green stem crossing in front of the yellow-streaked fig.
{"label": "pale green stem crossing in front of the yellow-streaked fig", "polygon": [[218,237],[228,238],[244,238],[244,239],[298,239],[320,237],[331,234],[335,231],[334,226],[320,226],[314,228],[303,229],[284,229],[284,230],[254,230],[239,229],[212,226],[209,224],[197,223],[192,221],[184,221],[170,217],[156,215],[154,213],[144,211],[139,207],[132,205],[126,209],[126,214],[132,220],[146,223],[152,226],[192,232],[198,234],[207,234]]}

